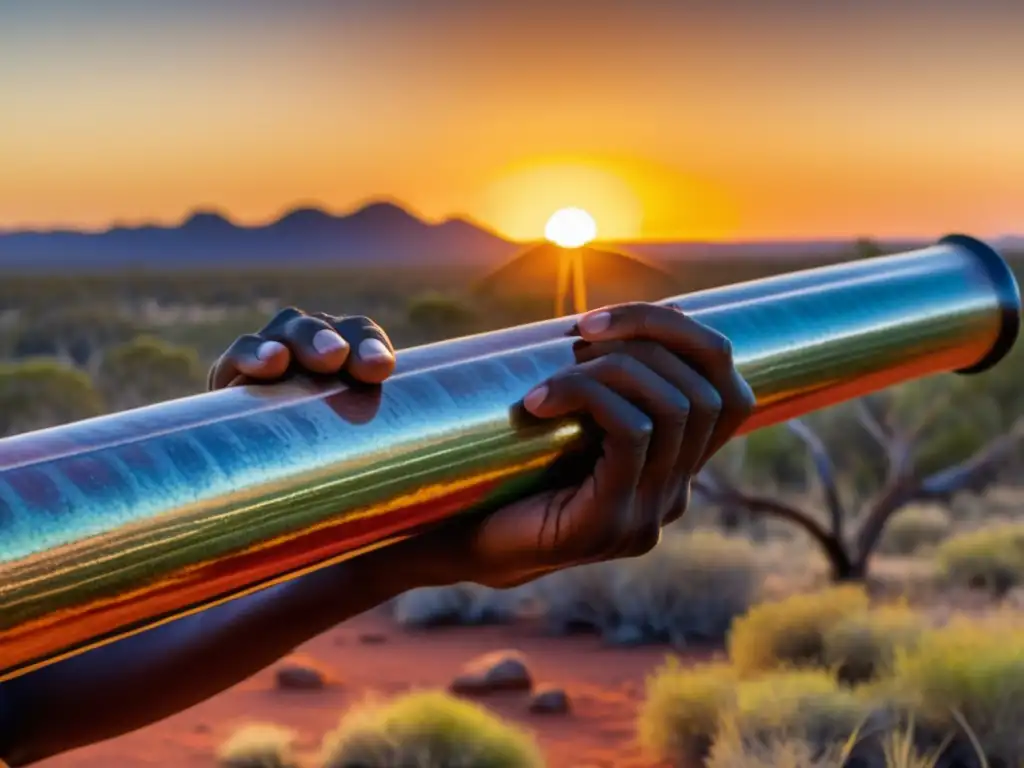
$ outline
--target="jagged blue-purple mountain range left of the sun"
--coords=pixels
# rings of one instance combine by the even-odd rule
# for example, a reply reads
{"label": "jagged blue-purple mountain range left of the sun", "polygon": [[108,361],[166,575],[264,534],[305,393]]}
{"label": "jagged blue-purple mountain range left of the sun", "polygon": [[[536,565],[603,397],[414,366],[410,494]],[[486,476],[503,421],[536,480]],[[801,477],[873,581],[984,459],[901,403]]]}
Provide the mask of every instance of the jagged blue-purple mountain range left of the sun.
{"label": "jagged blue-purple mountain range left of the sun", "polygon": [[262,226],[196,211],[178,226],[0,231],[0,269],[174,269],[267,264],[489,268],[519,246],[464,219],[429,223],[392,203],[348,215],[299,208]]}

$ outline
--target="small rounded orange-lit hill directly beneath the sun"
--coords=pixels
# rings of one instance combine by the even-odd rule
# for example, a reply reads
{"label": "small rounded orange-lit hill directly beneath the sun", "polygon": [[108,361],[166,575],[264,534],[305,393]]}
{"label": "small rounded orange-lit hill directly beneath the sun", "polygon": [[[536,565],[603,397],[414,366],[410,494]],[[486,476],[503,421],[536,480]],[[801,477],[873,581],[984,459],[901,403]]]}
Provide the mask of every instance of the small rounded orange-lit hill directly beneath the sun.
{"label": "small rounded orange-lit hill directly beneath the sun", "polygon": [[[528,248],[481,280],[483,296],[531,297],[554,303],[562,249],[551,244]],[[656,301],[679,291],[677,279],[657,264],[633,254],[583,249],[589,306],[623,301]]]}

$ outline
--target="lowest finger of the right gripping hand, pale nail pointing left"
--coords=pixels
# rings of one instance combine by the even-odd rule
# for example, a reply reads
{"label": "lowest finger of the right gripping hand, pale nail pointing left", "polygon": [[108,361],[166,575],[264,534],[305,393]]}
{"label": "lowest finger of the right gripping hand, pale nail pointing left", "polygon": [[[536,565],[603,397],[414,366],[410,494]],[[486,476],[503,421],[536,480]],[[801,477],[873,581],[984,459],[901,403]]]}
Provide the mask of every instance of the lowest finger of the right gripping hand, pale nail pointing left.
{"label": "lowest finger of the right gripping hand, pale nail pointing left", "polygon": [[601,459],[572,498],[572,509],[556,510],[553,515],[554,537],[561,541],[557,524],[564,512],[568,520],[588,520],[587,524],[573,525],[571,536],[566,537],[581,553],[614,551],[632,530],[633,520],[628,516],[636,500],[653,423],[628,399],[575,370],[534,389],[523,398],[523,407],[542,419],[584,415],[604,433]]}

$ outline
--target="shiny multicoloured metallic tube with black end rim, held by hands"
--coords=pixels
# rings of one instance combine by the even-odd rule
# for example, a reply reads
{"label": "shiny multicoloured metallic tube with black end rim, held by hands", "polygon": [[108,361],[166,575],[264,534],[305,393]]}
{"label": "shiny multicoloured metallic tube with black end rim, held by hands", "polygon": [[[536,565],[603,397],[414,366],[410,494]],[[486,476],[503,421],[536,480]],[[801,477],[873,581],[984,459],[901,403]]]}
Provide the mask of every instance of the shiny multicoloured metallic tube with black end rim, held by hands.
{"label": "shiny multicoloured metallic tube with black end rim, held by hands", "polygon": [[[1013,346],[1006,262],[963,236],[667,299],[727,336],[759,427]],[[573,317],[403,350],[379,389],[291,381],[0,440],[0,680],[535,493],[581,425],[512,407]]]}

